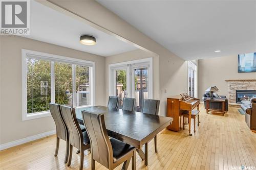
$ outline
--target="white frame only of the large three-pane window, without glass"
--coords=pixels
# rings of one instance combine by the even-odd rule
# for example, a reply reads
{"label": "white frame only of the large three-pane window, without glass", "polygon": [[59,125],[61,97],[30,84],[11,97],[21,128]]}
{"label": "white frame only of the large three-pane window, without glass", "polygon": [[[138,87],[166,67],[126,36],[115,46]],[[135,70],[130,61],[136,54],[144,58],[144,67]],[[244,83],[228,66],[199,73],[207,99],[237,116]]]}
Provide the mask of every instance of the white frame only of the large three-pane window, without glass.
{"label": "white frame only of the large three-pane window, without glass", "polygon": [[[95,104],[95,62],[81,60],[76,58],[64,57],[59,55],[53,55],[48,53],[41,53],[31,50],[22,49],[22,120],[29,120],[35,119],[40,117],[47,117],[51,116],[50,111],[42,111],[42,112],[35,112],[35,113],[27,113],[27,58],[32,59],[39,59],[39,60],[47,60],[51,61],[51,73],[54,72],[54,62],[63,62],[72,64],[72,85],[73,85],[73,107],[75,107],[75,65],[85,65],[90,67],[90,77],[89,77],[89,84],[90,84],[90,100],[91,105],[87,106],[77,106],[79,107],[90,107]],[[55,102],[55,77],[54,74],[51,74],[51,102]]]}

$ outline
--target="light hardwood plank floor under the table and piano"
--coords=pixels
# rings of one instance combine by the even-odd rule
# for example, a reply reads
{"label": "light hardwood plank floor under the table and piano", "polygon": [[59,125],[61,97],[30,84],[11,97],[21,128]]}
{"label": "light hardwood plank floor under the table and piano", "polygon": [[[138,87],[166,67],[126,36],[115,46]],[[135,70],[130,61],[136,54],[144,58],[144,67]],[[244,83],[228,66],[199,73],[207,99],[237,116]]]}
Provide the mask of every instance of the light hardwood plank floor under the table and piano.
{"label": "light hardwood plank floor under the table and piano", "polygon": [[[249,130],[244,115],[236,107],[229,107],[225,116],[206,114],[202,105],[200,108],[201,123],[195,135],[192,131],[193,136],[188,136],[187,126],[184,131],[163,131],[158,134],[157,154],[154,140],[150,142],[147,167],[137,154],[137,169],[232,169],[242,165],[256,169],[256,133]],[[193,126],[192,123],[191,129]],[[60,142],[57,157],[54,157],[54,150],[54,135],[18,145],[0,152],[0,169],[79,168],[80,157],[76,152],[73,152],[71,166],[64,164],[64,141]],[[86,152],[83,169],[90,169],[90,164],[91,155]],[[106,168],[96,162],[96,169]]]}

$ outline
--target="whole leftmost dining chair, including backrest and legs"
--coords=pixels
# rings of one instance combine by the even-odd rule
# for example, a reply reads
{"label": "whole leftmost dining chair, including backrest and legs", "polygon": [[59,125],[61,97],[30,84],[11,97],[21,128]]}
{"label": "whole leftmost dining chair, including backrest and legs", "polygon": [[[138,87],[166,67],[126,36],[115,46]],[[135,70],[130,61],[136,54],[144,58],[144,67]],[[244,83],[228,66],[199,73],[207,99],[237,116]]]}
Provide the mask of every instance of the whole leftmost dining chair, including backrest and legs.
{"label": "whole leftmost dining chair, including backrest and legs", "polygon": [[60,105],[55,103],[49,103],[50,113],[52,115],[52,118],[55,122],[56,126],[56,148],[54,156],[58,155],[59,151],[59,139],[66,141],[66,155],[65,155],[65,163],[68,162],[68,155],[69,155],[69,134],[68,134],[68,128],[65,124],[61,111],[60,111]]}

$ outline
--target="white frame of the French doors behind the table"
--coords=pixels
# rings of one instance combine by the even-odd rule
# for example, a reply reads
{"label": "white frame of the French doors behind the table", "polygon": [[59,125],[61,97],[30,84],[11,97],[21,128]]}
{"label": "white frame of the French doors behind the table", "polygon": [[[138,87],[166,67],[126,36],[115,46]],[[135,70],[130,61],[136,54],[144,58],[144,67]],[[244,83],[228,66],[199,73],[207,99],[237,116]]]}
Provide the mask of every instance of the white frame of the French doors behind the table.
{"label": "white frame of the French doors behind the table", "polygon": [[148,67],[148,99],[153,97],[153,58],[145,58],[140,60],[126,61],[115,64],[109,64],[109,95],[116,96],[116,70],[126,70],[126,90],[127,97],[134,98],[134,75],[133,69],[139,67]]}

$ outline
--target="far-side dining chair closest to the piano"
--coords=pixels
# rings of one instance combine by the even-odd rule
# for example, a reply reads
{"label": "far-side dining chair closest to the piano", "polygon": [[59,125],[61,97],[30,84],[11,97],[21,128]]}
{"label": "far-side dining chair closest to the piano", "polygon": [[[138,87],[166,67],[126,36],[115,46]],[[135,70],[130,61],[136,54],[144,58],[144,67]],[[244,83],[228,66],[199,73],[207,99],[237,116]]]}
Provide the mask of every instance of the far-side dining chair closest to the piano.
{"label": "far-side dining chair closest to the piano", "polygon": [[[159,100],[144,99],[142,104],[142,113],[158,115],[159,112]],[[154,137],[155,152],[157,153],[157,135]]]}

